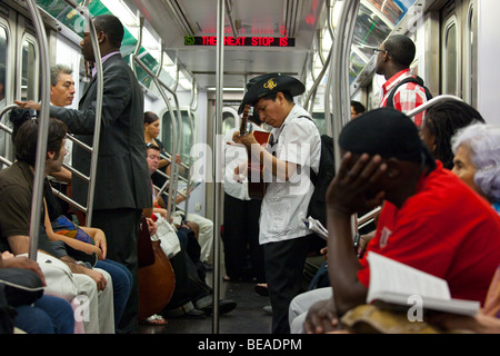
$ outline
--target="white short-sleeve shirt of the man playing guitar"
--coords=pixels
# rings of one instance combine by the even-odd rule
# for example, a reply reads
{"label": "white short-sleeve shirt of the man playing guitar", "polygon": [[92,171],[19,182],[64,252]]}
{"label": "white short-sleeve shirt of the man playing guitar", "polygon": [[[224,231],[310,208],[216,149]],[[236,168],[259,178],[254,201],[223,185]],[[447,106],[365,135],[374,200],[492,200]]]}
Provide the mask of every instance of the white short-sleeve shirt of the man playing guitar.
{"label": "white short-sleeve shirt of the man playing guitar", "polygon": [[298,170],[288,181],[269,182],[260,214],[259,243],[274,243],[310,234],[303,224],[314,186],[309,167],[318,172],[321,139],[309,112],[296,105],[280,128],[272,131],[271,150],[280,160],[298,164]]}

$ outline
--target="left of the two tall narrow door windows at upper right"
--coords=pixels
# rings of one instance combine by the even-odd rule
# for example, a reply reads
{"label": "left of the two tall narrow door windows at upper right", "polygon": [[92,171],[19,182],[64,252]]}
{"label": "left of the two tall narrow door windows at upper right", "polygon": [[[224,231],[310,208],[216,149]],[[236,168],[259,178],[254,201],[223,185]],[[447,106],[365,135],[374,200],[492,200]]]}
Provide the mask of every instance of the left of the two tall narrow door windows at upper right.
{"label": "left of the two tall narrow door windows at upper right", "polygon": [[443,33],[443,93],[459,95],[459,48],[457,17],[452,16],[444,26]]}

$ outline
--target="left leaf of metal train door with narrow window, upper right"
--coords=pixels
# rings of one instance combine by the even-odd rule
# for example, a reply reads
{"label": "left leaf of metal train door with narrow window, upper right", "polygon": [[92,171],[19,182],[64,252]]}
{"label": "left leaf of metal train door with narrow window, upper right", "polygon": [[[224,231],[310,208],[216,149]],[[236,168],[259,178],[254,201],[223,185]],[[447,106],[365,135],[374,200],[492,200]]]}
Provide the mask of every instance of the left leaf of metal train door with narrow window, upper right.
{"label": "left leaf of metal train door with narrow window, upper right", "polygon": [[441,93],[477,102],[476,0],[451,0],[441,9]]}

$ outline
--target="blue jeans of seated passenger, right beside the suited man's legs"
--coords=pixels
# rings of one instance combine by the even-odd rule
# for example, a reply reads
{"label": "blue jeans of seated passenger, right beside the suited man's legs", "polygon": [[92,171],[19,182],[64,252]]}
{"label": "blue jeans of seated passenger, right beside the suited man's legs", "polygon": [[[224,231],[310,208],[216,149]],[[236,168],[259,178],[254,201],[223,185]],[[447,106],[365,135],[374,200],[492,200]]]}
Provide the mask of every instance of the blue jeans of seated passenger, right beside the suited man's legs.
{"label": "blue jeans of seated passenger, right beside the suited man's legs", "polygon": [[118,329],[118,324],[132,289],[132,274],[127,267],[111,259],[99,260],[96,268],[109,273],[113,281],[114,328]]}

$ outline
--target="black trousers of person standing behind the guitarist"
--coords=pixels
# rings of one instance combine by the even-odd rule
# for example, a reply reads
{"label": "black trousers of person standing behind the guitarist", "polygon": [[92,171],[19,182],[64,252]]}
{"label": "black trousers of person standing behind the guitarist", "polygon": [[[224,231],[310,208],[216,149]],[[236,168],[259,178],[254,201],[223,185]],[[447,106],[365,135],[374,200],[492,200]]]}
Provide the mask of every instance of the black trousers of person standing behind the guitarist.
{"label": "black trousers of person standing behind the guitarist", "polygon": [[222,243],[226,273],[232,280],[246,279],[246,260],[250,255],[257,283],[266,283],[263,247],[259,245],[259,217],[262,200],[240,200],[224,194]]}

